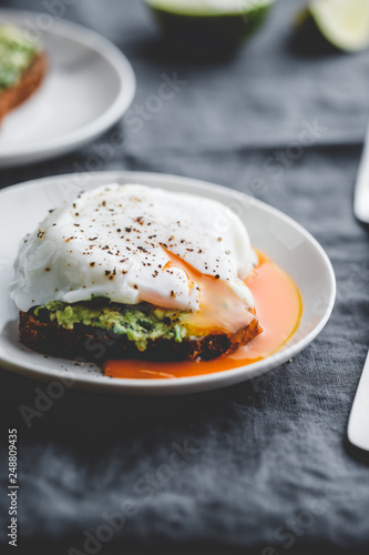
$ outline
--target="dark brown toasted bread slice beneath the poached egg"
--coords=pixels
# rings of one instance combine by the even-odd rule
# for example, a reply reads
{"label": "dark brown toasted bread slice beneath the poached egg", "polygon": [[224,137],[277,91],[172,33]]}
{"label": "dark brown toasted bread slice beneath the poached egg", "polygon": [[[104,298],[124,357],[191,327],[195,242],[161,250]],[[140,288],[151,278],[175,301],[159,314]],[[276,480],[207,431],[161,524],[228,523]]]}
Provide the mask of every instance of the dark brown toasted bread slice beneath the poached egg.
{"label": "dark brown toasted bread slice beneath the poached egg", "polygon": [[66,330],[57,323],[40,322],[29,312],[20,311],[19,331],[21,343],[33,351],[101,364],[109,359],[211,360],[245,345],[262,329],[255,317],[235,334],[214,333],[198,339],[184,337],[181,343],[165,339],[148,340],[144,352],[139,351],[135,343],[125,335],[83,324],[75,324],[73,330]]}

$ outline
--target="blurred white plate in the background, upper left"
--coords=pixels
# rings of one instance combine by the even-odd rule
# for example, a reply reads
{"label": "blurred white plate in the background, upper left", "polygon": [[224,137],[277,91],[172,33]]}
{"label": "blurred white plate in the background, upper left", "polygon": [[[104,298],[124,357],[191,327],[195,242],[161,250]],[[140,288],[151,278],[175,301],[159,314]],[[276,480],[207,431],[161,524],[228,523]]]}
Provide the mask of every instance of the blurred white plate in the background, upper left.
{"label": "blurred white plate in the background, upper left", "polygon": [[40,89],[0,127],[0,167],[75,150],[113,125],[135,92],[132,67],[110,41],[51,16],[0,10],[0,21],[39,37],[49,57]]}

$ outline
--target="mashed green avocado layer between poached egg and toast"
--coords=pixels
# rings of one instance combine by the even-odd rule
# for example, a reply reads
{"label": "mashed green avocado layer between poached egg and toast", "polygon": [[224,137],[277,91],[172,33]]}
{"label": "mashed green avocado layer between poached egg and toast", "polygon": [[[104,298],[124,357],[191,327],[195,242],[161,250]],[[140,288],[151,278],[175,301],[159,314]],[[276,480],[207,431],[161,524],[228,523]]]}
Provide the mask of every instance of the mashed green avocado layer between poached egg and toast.
{"label": "mashed green avocado layer between poached egg and toast", "polygon": [[147,340],[166,339],[181,342],[187,329],[181,323],[184,312],[156,309],[148,304],[126,306],[110,303],[109,300],[94,300],[66,304],[60,301],[38,306],[34,316],[41,321],[57,322],[73,330],[74,324],[91,325],[102,330],[124,334],[134,341],[140,351],[145,351]]}

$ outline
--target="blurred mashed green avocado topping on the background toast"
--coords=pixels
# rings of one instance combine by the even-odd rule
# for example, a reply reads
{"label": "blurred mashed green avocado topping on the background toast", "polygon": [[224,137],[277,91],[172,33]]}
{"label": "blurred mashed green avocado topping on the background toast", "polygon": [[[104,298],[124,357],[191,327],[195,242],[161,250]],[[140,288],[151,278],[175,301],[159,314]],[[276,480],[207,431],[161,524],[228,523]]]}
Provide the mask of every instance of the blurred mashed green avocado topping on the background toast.
{"label": "blurred mashed green avocado topping on the background toast", "polygon": [[28,40],[21,29],[0,26],[0,92],[19,81],[39,50],[39,44]]}

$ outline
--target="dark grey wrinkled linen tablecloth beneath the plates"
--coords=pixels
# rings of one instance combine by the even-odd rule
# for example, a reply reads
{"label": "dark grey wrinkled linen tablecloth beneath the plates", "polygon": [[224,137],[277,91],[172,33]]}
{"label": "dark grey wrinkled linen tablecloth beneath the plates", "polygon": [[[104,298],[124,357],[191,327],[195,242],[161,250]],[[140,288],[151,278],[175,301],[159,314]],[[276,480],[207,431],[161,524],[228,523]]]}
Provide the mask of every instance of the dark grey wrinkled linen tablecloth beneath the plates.
{"label": "dark grey wrinkled linen tablecloth beneath the plates", "polygon": [[[39,11],[52,3],[1,2]],[[60,3],[66,19],[121,48],[136,72],[132,111],[114,128],[124,144],[102,169],[195,176],[254,194],[321,243],[338,294],[318,339],[257,387],[162,400],[66,391],[28,428],[19,407],[34,406],[47,384],[0,371],[0,475],[6,482],[8,428],[17,427],[20,546],[27,553],[365,553],[369,466],[347,448],[345,434],[369,345],[368,233],[351,209],[369,52],[294,52],[294,0],[277,2],[234,58],[203,63],[161,53],[141,1]],[[185,81],[177,94],[134,123],[163,73],[174,72]],[[294,151],[306,129],[309,144]],[[0,186],[88,171],[89,157],[114,130],[70,155],[1,170]],[[183,463],[175,470],[174,458]],[[6,493],[0,511],[8,523]]]}

